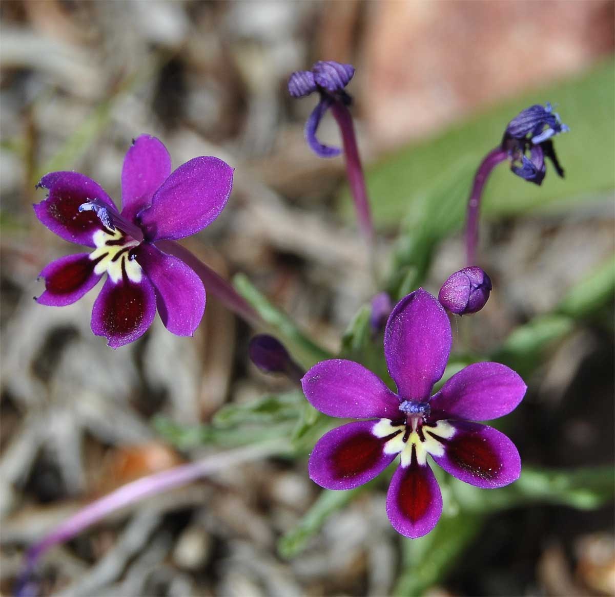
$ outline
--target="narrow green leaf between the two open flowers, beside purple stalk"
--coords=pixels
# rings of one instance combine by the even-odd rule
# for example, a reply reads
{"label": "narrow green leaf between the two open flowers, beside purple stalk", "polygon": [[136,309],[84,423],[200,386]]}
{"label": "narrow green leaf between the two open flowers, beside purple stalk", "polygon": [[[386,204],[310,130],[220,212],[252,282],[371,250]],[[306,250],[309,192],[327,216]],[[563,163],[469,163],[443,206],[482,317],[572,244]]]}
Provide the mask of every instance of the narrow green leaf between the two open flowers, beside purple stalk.
{"label": "narrow green leaf between the two open flowers, beside purple stalk", "polygon": [[312,367],[319,361],[331,359],[332,355],[324,348],[317,345],[311,338],[304,334],[299,326],[272,305],[256,287],[250,282],[247,276],[237,274],[233,278],[233,284],[242,297],[255,308],[263,320],[271,326],[272,331],[276,332],[280,340],[286,343],[290,353],[306,368]]}

